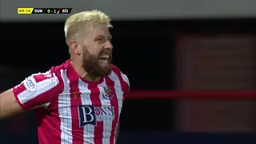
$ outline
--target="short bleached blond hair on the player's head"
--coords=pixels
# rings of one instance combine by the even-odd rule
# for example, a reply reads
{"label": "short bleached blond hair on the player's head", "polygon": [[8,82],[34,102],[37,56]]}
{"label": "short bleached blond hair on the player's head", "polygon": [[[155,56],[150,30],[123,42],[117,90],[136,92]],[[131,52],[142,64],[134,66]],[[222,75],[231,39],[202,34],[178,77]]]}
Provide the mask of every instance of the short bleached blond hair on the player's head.
{"label": "short bleached blond hair on the player's head", "polygon": [[110,17],[100,10],[82,11],[71,15],[66,19],[64,26],[67,44],[70,41],[70,38],[78,34],[82,28],[87,28],[98,24],[104,24],[108,27],[113,27],[110,24],[110,21]]}

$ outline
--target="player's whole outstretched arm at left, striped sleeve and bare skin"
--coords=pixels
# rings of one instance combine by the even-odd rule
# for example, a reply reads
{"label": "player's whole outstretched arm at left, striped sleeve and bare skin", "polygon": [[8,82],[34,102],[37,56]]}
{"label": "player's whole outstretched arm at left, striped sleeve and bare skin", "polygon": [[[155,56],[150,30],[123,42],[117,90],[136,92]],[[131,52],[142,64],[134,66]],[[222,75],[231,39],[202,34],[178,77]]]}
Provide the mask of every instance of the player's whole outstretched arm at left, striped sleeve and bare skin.
{"label": "player's whole outstretched arm at left, striped sleeve and bare skin", "polygon": [[33,74],[0,95],[0,119],[44,106],[57,94],[58,86],[59,81],[54,74]]}

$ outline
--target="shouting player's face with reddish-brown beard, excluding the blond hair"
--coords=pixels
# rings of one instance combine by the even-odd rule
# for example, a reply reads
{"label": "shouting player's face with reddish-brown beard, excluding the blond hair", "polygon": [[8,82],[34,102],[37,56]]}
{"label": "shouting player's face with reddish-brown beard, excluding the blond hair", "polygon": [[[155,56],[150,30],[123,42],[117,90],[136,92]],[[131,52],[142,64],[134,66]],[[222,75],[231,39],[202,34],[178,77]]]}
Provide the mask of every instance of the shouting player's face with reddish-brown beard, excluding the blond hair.
{"label": "shouting player's face with reddish-brown beard, excluding the blond hair", "polygon": [[96,25],[86,28],[78,38],[82,66],[88,74],[106,77],[112,71],[111,34],[108,26]]}

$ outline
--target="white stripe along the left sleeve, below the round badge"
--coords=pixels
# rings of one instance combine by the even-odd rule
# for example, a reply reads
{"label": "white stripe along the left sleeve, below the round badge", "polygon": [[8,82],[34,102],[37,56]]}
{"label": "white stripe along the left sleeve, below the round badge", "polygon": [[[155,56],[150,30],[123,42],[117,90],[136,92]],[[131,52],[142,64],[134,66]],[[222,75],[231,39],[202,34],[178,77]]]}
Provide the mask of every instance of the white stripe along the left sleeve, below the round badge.
{"label": "white stripe along the left sleeve, below the round badge", "polygon": [[[55,80],[53,82],[53,80]],[[36,82],[36,90],[29,91],[24,90],[20,94],[18,94],[19,101],[24,104],[29,102],[31,99],[36,98],[38,95],[45,93],[48,90],[54,88],[54,86],[58,85],[58,78],[54,75],[54,78],[48,78],[41,82]]]}

